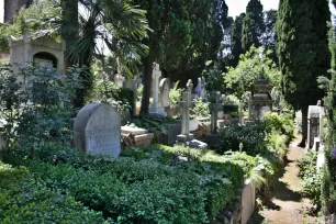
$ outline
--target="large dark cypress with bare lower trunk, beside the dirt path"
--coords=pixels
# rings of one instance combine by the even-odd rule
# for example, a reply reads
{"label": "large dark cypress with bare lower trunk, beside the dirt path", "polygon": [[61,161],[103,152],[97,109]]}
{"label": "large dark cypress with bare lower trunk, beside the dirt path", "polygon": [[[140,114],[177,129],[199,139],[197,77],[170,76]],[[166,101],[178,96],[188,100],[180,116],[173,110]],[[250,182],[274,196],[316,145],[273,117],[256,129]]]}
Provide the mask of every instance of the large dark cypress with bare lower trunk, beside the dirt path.
{"label": "large dark cypress with bare lower trunk, beside the dirt path", "polygon": [[318,76],[331,67],[327,0],[280,0],[276,24],[277,53],[287,102],[302,111],[302,142],[307,135],[307,108],[324,96]]}

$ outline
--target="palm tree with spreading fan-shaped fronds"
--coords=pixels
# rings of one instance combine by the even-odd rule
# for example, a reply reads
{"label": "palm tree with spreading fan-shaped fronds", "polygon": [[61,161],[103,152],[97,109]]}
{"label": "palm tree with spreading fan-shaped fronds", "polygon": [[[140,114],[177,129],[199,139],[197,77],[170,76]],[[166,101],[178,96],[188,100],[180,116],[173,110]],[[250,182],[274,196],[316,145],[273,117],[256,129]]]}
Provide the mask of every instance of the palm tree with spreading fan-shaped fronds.
{"label": "palm tree with spreading fan-shaped fronds", "polygon": [[[60,3],[61,16],[42,21],[48,29],[38,30],[35,35],[61,34],[67,41],[66,65],[89,68],[94,55],[101,58],[109,52],[116,58],[120,71],[130,75],[136,70],[148,52],[142,43],[149,31],[144,10],[132,5],[130,0],[61,0]],[[85,74],[76,108],[83,105],[86,91],[90,91],[91,76]]]}

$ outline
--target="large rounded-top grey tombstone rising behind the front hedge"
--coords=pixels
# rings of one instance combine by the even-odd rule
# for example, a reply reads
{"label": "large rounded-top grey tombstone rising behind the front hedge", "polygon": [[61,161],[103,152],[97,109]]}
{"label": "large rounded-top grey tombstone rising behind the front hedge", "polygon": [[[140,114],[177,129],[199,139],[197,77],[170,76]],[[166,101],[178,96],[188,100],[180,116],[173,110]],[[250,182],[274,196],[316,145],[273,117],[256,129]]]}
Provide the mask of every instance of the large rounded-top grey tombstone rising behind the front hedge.
{"label": "large rounded-top grey tombstone rising behind the front hedge", "polygon": [[121,119],[112,105],[90,103],[83,107],[76,116],[74,131],[74,141],[79,150],[119,157]]}

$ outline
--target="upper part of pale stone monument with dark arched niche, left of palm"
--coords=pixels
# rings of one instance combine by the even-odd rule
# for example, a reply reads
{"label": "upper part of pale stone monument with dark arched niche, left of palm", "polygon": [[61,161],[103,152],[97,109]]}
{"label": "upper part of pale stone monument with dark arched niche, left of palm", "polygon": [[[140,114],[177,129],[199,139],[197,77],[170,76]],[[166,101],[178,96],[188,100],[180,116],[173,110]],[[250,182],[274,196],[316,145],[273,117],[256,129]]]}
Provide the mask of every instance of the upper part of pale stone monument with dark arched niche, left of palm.
{"label": "upper part of pale stone monument with dark arched niche, left of palm", "polygon": [[19,67],[27,63],[52,63],[61,74],[65,74],[65,42],[57,43],[51,37],[32,38],[29,34],[22,38],[9,37],[10,63],[13,72],[19,74]]}

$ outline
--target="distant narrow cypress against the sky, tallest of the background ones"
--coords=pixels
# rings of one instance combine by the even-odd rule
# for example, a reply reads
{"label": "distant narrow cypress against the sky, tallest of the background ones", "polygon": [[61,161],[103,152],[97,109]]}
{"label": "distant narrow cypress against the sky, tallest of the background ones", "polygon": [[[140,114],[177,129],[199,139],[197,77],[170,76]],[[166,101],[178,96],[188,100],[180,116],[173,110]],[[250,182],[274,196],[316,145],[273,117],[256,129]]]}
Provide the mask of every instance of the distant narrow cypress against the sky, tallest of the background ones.
{"label": "distant narrow cypress against the sky, tallest of the background ones", "polygon": [[246,16],[243,22],[242,46],[244,53],[251,45],[259,47],[261,35],[265,31],[262,4],[260,0],[250,0],[246,7]]}

